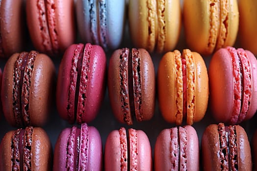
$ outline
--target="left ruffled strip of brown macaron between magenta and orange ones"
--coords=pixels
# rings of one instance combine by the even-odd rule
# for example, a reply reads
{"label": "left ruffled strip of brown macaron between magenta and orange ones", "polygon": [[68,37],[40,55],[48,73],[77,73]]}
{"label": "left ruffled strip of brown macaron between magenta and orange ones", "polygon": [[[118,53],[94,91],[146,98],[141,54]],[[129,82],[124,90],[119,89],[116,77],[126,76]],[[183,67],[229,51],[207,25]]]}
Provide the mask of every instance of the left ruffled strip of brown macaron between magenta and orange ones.
{"label": "left ruffled strip of brown macaron between magenta and orange ones", "polygon": [[130,99],[129,98],[129,49],[123,48],[119,56],[119,83],[120,83],[120,102],[121,110],[123,113],[123,120],[128,125],[132,125],[132,119],[130,116]]}

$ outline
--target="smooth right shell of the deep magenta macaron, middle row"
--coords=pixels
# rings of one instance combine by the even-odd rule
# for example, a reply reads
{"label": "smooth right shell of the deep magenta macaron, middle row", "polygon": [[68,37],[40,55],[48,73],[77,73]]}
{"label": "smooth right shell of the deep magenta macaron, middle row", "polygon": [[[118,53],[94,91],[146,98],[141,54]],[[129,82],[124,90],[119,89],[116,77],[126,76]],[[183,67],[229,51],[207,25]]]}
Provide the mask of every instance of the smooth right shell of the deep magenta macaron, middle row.
{"label": "smooth right shell of the deep magenta macaron, middle row", "polygon": [[101,106],[106,89],[106,69],[106,56],[102,47],[93,45],[90,52],[87,98],[85,100],[85,114],[82,115],[82,122],[91,122]]}

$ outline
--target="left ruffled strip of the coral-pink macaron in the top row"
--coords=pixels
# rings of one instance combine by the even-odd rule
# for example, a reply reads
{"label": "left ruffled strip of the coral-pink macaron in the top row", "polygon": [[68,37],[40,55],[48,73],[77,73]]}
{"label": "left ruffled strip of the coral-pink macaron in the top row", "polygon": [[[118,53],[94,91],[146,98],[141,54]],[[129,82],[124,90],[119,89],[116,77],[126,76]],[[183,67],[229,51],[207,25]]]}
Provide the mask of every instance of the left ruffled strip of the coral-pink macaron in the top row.
{"label": "left ruffled strip of the coral-pink macaron in the top row", "polygon": [[45,0],[37,0],[37,9],[38,9],[38,19],[40,23],[40,34],[42,37],[42,44],[45,47],[47,53],[52,53],[52,44],[50,39],[50,34],[48,31],[47,25],[47,11]]}

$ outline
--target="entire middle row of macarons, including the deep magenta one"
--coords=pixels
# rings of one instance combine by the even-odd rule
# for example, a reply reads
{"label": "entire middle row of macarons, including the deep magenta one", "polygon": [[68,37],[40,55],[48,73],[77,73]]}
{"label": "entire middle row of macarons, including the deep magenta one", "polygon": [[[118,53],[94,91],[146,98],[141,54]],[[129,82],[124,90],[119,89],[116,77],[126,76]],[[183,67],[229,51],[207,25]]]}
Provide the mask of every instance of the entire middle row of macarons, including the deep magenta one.
{"label": "entire middle row of macarons, including the deep magenta one", "polygon": [[165,121],[176,125],[201,121],[209,93],[211,113],[217,122],[239,124],[257,111],[257,59],[242,48],[228,46],[216,51],[208,71],[197,52],[167,52],[160,61],[157,81],[145,49],[115,50],[108,71],[106,61],[101,46],[72,44],[59,65],[55,86],[54,64],[47,55],[37,51],[13,54],[2,74],[1,102],[6,120],[13,127],[43,126],[56,92],[56,107],[64,120],[90,123],[101,107],[106,75],[114,116],[127,125],[153,117],[156,94]]}

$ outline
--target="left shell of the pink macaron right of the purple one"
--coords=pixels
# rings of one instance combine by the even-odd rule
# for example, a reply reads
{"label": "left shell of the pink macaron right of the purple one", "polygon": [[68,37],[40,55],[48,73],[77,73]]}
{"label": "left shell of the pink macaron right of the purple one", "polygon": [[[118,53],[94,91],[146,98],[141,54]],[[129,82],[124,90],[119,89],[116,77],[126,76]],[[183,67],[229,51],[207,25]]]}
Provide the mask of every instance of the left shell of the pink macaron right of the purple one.
{"label": "left shell of the pink macaron right of the purple one", "polygon": [[[123,128],[123,131],[126,131]],[[125,132],[126,134],[126,132]],[[127,142],[123,142],[127,144]],[[127,150],[127,146],[124,146],[123,150]],[[126,152],[127,154],[127,152]],[[106,143],[105,143],[105,154],[104,154],[104,163],[105,171],[120,171],[124,169],[121,166],[121,148],[120,148],[120,134],[119,130],[113,130],[109,133]],[[128,161],[128,156],[123,156],[126,161]],[[126,169],[127,170],[127,169]]]}

